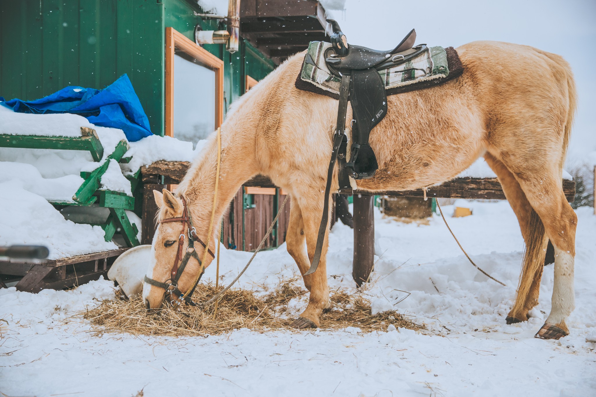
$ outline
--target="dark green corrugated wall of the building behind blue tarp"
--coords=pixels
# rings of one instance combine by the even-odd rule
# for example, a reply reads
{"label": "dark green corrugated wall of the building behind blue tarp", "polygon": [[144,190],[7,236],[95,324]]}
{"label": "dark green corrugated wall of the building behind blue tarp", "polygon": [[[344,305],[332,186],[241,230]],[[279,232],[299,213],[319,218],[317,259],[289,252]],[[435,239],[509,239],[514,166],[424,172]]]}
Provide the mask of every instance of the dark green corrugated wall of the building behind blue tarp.
{"label": "dark green corrugated wall of the building behind blue tarp", "polygon": [[[0,0],[0,96],[37,99],[68,85],[101,89],[128,73],[149,117],[163,135],[164,29],[194,40],[194,26],[225,29],[195,17],[189,0]],[[225,108],[244,92],[248,73],[260,80],[275,65],[249,43],[224,60]]]}

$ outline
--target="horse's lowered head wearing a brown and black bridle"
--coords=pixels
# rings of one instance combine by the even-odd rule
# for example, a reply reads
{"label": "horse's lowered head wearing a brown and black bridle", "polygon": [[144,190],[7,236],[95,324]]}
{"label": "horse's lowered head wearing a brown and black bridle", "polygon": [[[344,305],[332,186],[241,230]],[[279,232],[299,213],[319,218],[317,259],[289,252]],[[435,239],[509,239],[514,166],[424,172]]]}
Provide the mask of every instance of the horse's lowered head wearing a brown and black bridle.
{"label": "horse's lowered head wearing a brown and black bridle", "polygon": [[163,193],[153,190],[153,195],[159,208],[159,224],[152,243],[155,261],[149,265],[143,285],[147,309],[162,307],[166,295],[170,296],[167,289],[175,291],[174,299],[187,292],[200,271],[197,252],[194,246],[188,246],[189,236],[196,237],[196,234],[185,202],[166,189]]}

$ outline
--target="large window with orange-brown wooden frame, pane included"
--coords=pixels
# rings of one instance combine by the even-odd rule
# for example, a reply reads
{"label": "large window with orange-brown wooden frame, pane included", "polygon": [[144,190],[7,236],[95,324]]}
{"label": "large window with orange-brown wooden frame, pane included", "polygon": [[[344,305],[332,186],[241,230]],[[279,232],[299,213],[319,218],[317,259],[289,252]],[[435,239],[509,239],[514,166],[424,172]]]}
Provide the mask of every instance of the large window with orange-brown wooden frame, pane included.
{"label": "large window with orange-brown wooden frame, pane included", "polygon": [[224,62],[166,27],[165,134],[193,142],[222,124]]}

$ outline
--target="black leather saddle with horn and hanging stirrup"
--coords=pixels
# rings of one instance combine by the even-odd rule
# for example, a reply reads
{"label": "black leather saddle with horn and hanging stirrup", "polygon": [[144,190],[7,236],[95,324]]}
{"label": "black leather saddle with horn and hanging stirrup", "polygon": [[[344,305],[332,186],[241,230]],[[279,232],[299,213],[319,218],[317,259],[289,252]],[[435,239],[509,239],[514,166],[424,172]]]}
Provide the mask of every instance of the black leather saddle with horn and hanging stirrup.
{"label": "black leather saddle with horn and hanging stirrup", "polygon": [[[344,138],[345,142],[339,153],[340,189],[350,189],[348,176],[353,179],[367,179],[374,176],[378,169],[377,158],[368,144],[371,130],[387,113],[385,85],[377,70],[411,60],[427,51],[427,47],[419,45],[412,48],[416,40],[414,29],[390,51],[349,45],[337,21],[328,19],[327,22],[331,24],[333,34],[331,47],[325,51],[325,63],[331,73],[342,78],[337,132],[340,129],[343,132],[347,101],[352,105],[352,148],[349,162],[342,155],[347,150],[347,137]],[[343,118],[340,116],[342,112]]]}

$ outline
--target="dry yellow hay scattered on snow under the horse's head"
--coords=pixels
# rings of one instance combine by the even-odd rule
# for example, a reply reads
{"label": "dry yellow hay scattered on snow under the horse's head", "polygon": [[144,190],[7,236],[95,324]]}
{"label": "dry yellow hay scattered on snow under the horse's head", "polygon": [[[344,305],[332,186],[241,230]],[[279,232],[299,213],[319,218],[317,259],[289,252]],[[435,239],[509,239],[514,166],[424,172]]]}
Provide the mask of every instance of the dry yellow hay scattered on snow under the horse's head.
{"label": "dry yellow hay scattered on snow under the horse's head", "polygon": [[[215,295],[213,285],[201,285],[193,299],[206,301]],[[129,333],[156,336],[206,336],[230,332],[247,327],[257,332],[271,330],[294,330],[289,327],[296,313],[288,307],[293,299],[303,299],[300,307],[306,307],[306,290],[285,282],[277,290],[264,296],[243,289],[230,289],[219,301],[215,317],[213,307],[200,310],[183,305],[173,311],[169,305],[147,312],[142,298],[126,299],[116,293],[115,299],[105,299],[95,308],[80,313],[91,323],[92,332]],[[395,311],[373,315],[370,302],[362,293],[348,294],[336,291],[331,295],[331,310],[321,314],[321,329],[343,329],[353,326],[364,332],[386,330],[389,324],[408,329],[423,327],[406,320]]]}

